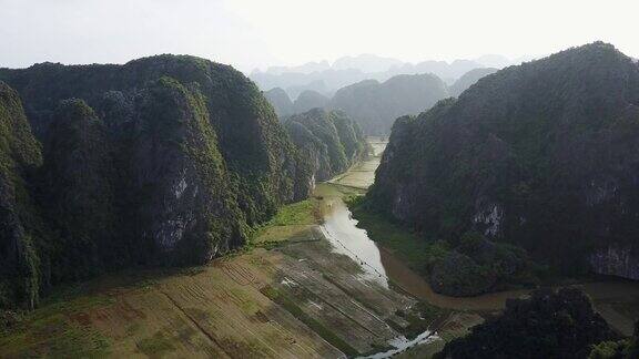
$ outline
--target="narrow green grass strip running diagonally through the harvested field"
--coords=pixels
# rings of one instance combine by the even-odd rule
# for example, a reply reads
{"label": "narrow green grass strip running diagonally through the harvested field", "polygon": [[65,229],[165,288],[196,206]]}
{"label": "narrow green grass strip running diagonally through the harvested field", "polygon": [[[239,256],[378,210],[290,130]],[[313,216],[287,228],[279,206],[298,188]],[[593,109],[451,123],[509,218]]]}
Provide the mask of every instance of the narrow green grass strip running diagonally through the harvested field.
{"label": "narrow green grass strip running diagonally through the harvested field", "polygon": [[328,341],[332,346],[339,349],[348,357],[354,357],[358,355],[357,350],[353,348],[349,343],[344,341],[339,338],[335,332],[333,332],[329,328],[325,327],[323,324],[317,321],[316,319],[312,318],[307,314],[305,314],[295,300],[290,298],[286,294],[273,288],[271,286],[263,287],[260,291],[263,295],[268,297],[268,299],[273,300],[274,302],[281,305],[284,309],[286,309],[290,314],[292,314],[295,318],[305,324],[308,328],[315,331],[320,337],[324,338],[324,340]]}

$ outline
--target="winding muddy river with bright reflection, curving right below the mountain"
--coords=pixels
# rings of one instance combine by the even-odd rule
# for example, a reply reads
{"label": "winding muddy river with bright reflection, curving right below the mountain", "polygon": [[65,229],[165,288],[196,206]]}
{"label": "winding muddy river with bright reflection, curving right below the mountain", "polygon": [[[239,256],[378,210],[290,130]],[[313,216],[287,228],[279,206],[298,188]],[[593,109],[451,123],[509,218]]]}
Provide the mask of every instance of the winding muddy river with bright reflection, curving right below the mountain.
{"label": "winding muddy river with bright reflection, curving right below the mountain", "polygon": [[[519,298],[530,290],[508,290],[477,297],[457,298],[436,294],[427,280],[413,271],[392,252],[373,242],[343,202],[344,188],[364,193],[375,181],[386,141],[368,139],[375,155],[354,166],[347,173],[318,185],[316,196],[323,197],[322,232],[334,250],[349,256],[364,270],[363,278],[388,287],[389,283],[414,297],[440,308],[453,310],[493,311],[505,307],[506,300]],[[639,319],[639,284],[620,279],[577,285],[591,298],[597,310],[623,335],[632,334],[632,324]]]}

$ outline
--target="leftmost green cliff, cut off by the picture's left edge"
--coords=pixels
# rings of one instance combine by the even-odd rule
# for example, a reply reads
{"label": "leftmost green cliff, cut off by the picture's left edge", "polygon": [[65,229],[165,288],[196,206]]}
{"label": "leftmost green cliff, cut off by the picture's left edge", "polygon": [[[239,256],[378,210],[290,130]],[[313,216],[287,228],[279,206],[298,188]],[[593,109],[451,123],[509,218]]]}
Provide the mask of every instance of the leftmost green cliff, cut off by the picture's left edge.
{"label": "leftmost green cliff, cut off by the picture's left edge", "polygon": [[0,308],[38,304],[40,220],[26,181],[41,163],[18,94],[0,82]]}

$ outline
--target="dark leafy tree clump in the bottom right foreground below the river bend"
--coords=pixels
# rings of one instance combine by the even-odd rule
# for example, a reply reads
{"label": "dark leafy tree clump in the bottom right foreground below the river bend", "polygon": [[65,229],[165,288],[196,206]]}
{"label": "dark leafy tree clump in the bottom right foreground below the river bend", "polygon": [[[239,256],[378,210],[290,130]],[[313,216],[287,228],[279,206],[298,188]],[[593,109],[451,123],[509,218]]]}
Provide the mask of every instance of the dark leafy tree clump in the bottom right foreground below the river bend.
{"label": "dark leafy tree clump in the bottom right foreground below the river bend", "polygon": [[503,315],[447,343],[436,358],[586,358],[592,345],[612,338],[582,291],[539,290],[509,300]]}

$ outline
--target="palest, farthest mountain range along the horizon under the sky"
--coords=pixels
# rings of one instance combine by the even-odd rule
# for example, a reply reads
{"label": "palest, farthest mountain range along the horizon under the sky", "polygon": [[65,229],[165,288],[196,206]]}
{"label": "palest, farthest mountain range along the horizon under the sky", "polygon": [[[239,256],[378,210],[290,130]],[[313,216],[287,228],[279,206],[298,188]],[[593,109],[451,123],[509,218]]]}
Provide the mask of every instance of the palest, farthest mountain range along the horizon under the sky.
{"label": "palest, farthest mountain range along the horizon under the sky", "polygon": [[339,58],[332,64],[328,61],[320,61],[296,66],[271,66],[266,71],[255,70],[250,79],[264,91],[281,88],[294,100],[305,90],[331,96],[338,89],[363,80],[386,81],[398,74],[433,73],[447,84],[452,84],[473,69],[503,69],[525,60],[531,59],[510,60],[498,54],[486,54],[473,60],[452,62],[428,60],[409,63],[374,54],[361,54]]}

